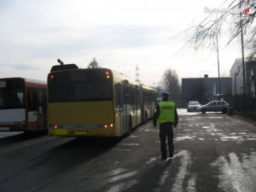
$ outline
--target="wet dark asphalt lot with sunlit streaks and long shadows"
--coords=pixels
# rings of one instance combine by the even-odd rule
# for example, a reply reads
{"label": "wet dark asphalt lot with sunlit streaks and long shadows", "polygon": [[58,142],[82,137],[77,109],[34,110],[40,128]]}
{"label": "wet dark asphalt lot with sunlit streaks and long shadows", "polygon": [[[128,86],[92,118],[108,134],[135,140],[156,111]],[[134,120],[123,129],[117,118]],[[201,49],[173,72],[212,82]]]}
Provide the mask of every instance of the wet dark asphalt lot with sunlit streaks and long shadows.
{"label": "wet dark asphalt lot with sunlit streaks and long shadows", "polygon": [[130,137],[0,134],[0,191],[256,191],[256,126],[178,109],[173,160],[152,121]]}

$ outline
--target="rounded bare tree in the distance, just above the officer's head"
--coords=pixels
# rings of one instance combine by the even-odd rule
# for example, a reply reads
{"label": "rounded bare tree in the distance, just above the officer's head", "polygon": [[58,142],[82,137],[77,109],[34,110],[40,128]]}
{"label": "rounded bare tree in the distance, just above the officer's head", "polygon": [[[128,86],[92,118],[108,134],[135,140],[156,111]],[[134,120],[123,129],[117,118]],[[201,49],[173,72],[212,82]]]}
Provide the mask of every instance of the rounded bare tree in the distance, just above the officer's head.
{"label": "rounded bare tree in the distance, just above the officer's head", "polygon": [[170,92],[172,99],[177,99],[180,96],[180,84],[177,76],[177,72],[170,68],[165,71],[162,76],[163,87],[166,91]]}

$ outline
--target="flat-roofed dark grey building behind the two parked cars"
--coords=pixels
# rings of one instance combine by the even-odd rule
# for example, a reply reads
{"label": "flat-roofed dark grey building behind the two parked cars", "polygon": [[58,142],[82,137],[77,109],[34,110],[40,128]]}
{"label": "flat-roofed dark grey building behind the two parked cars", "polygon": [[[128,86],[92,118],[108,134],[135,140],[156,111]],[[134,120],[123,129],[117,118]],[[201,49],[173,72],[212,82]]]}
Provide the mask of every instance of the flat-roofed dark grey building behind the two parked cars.
{"label": "flat-roofed dark grey building behind the two parked cars", "polygon": [[218,78],[190,78],[182,79],[183,107],[191,100],[202,104],[212,100],[224,99],[229,102],[231,96],[231,78],[220,78],[220,94],[218,92]]}

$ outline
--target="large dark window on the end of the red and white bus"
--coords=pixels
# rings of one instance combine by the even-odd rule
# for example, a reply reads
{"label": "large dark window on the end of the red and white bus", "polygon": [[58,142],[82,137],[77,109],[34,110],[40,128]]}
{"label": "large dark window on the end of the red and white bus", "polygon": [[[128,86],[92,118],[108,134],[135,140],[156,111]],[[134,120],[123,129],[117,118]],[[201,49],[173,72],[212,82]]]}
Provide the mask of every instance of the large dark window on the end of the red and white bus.
{"label": "large dark window on the end of the red and white bus", "polygon": [[25,108],[22,79],[0,79],[0,109]]}

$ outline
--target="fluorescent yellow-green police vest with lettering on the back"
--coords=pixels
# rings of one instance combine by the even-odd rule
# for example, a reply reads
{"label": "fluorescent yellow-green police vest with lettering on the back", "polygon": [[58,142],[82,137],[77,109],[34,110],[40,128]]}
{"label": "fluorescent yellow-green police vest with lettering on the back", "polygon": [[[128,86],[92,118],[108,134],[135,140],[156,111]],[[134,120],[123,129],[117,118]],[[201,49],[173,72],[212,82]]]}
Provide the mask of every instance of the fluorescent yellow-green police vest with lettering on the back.
{"label": "fluorescent yellow-green police vest with lettering on the back", "polygon": [[175,123],[175,104],[174,102],[160,102],[160,115],[157,119],[159,124],[171,122]]}

